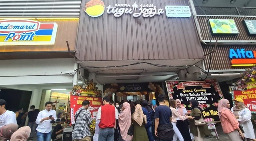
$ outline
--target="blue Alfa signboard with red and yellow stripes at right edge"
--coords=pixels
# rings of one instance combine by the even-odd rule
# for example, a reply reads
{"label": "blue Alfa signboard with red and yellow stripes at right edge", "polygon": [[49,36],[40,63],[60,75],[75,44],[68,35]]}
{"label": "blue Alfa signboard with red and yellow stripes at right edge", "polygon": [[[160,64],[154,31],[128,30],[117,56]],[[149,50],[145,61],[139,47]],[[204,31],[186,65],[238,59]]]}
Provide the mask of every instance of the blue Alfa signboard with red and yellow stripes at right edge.
{"label": "blue Alfa signboard with red and yellow stripes at right edge", "polygon": [[256,51],[245,49],[230,49],[229,58],[232,67],[253,66],[256,64]]}

